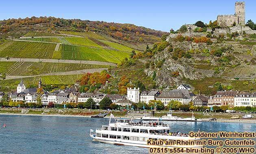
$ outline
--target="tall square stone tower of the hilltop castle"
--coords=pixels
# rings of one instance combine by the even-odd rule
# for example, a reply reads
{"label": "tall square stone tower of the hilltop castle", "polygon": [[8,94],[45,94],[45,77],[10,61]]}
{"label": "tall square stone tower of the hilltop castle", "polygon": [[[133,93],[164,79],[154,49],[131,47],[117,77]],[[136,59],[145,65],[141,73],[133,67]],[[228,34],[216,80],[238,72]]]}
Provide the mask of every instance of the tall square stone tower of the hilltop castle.
{"label": "tall square stone tower of the hilltop castle", "polygon": [[238,16],[237,24],[245,26],[245,2],[235,3],[235,15]]}

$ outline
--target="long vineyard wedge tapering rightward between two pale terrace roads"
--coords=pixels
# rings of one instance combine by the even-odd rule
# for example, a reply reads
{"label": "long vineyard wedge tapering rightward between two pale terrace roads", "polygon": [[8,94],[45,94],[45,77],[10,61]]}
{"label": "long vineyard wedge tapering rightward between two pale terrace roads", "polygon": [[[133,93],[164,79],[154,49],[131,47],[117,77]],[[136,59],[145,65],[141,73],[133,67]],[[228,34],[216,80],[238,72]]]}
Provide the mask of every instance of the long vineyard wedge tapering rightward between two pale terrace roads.
{"label": "long vineyard wedge tapering rightward between two pale terrace roads", "polygon": [[10,75],[28,76],[40,75],[54,72],[68,72],[92,68],[107,68],[107,65],[95,64],[72,64],[72,63],[46,63],[46,62],[24,62]]}

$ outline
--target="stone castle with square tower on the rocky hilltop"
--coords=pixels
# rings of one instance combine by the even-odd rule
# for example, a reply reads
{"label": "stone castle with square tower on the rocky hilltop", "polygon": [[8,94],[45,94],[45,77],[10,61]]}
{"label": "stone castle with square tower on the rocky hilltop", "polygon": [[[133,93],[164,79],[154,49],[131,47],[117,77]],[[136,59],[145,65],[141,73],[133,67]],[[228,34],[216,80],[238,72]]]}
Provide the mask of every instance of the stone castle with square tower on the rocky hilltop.
{"label": "stone castle with square tower on the rocky hilltop", "polygon": [[217,21],[221,27],[233,26],[234,23],[245,26],[245,2],[235,2],[235,14],[218,15]]}

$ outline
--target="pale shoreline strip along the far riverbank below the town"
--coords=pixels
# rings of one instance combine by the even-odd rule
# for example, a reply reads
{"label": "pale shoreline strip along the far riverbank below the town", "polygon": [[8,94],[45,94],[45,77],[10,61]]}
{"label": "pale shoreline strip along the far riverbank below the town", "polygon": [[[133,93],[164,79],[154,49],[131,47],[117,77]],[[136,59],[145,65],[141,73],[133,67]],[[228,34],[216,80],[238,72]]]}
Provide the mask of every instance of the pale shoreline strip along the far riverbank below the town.
{"label": "pale shoreline strip along the far riverbank below the town", "polygon": [[[91,118],[91,116],[79,116],[79,115],[68,115],[68,114],[23,114],[23,113],[0,113],[0,115],[11,115],[11,116],[50,116],[50,117],[80,117],[80,118]],[[104,118],[109,118],[106,116]],[[130,116],[118,116],[118,118],[131,118]],[[137,118],[137,117],[134,117]],[[246,119],[238,119],[238,120],[217,120],[217,121],[208,121],[203,120],[202,122],[221,122],[221,123],[240,123],[240,124],[256,124],[256,120],[246,120]]]}

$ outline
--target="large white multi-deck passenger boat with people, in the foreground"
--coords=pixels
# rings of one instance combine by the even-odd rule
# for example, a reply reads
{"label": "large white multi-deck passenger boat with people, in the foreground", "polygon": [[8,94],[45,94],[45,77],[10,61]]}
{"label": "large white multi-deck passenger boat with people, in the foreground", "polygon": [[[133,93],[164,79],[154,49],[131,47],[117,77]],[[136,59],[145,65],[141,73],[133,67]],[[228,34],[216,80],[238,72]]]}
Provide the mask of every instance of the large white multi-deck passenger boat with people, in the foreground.
{"label": "large white multi-deck passenger boat with people, in the foreground", "polygon": [[[111,119],[110,119],[111,120]],[[110,121],[109,120],[109,121]],[[129,145],[144,148],[151,147],[179,147],[179,148],[200,148],[202,145],[177,145],[176,140],[200,140],[200,138],[191,138],[187,133],[171,132],[169,126],[163,122],[155,123],[134,123],[132,119],[117,118],[115,123],[108,126],[102,126],[100,129],[91,129],[90,136],[94,141],[102,143],[111,143],[115,145]],[[173,145],[147,145],[148,139],[154,141],[174,141]]]}

